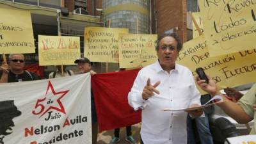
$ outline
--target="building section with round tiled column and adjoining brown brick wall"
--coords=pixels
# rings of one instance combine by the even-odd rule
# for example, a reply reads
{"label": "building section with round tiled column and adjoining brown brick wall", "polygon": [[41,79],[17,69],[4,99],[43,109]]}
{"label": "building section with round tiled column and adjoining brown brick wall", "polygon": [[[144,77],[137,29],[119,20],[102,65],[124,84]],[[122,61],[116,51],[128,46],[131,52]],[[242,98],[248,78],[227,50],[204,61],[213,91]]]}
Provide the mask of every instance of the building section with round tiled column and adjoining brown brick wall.
{"label": "building section with round tiled column and adjoining brown brick wall", "polygon": [[187,5],[195,9],[196,1],[103,0],[103,22],[108,26],[111,20],[112,28],[129,28],[130,33],[163,35],[176,32],[182,42],[186,42]]}

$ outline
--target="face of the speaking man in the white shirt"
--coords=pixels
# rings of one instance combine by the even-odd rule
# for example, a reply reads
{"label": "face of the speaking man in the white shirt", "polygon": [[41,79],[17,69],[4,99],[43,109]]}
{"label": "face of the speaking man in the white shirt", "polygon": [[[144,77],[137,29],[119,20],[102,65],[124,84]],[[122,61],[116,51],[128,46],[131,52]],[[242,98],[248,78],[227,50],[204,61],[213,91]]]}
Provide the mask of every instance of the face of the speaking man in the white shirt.
{"label": "face of the speaking man in the white shirt", "polygon": [[177,44],[177,41],[172,36],[165,36],[160,40],[157,56],[164,70],[170,70],[175,66],[175,61],[179,56]]}

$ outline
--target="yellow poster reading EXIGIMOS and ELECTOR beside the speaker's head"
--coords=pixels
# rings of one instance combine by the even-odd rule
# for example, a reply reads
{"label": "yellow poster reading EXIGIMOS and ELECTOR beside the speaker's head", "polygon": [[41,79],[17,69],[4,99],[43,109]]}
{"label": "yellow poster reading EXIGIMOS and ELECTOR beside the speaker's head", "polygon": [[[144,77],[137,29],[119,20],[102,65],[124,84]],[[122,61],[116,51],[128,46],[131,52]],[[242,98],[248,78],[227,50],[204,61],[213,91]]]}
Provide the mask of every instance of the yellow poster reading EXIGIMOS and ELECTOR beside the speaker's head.
{"label": "yellow poster reading EXIGIMOS and ELECTOR beside the speaker's head", "polygon": [[256,49],[210,57],[204,35],[184,43],[177,63],[188,67],[193,75],[202,67],[220,88],[256,81]]}

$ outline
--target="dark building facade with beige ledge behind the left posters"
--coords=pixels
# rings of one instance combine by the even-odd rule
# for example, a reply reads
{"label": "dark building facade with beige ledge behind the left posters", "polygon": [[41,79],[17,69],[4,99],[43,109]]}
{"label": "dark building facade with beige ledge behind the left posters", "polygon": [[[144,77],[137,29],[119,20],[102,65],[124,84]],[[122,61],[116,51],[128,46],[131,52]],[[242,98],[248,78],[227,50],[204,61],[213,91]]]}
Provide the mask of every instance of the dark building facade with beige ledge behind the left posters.
{"label": "dark building facade with beige ledge behind the left posters", "polygon": [[[83,56],[84,27],[104,26],[100,22],[100,17],[97,16],[97,13],[87,8],[88,4],[92,1],[0,0],[0,8],[29,10],[31,12],[36,53],[26,54],[25,56],[26,61],[28,61],[27,63],[38,63],[38,35],[80,36],[81,55]],[[94,4],[96,8],[101,3],[94,2]],[[95,15],[83,13],[83,10],[82,13],[74,11],[79,6],[81,6],[81,10],[85,8],[85,10],[88,10],[88,13],[94,13]],[[67,7],[66,10],[65,7]],[[45,67],[45,70],[51,71],[52,68]]]}

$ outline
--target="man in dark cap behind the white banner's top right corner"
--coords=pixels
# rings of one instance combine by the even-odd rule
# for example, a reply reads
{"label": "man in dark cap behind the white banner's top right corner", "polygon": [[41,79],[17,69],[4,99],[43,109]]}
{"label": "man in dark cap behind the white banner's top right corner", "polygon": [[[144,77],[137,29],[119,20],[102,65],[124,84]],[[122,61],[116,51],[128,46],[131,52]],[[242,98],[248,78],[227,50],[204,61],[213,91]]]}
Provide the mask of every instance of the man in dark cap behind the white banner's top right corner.
{"label": "man in dark cap behind the white banner's top right corner", "polygon": [[[74,63],[77,63],[77,67],[80,74],[84,74],[90,72],[91,76],[96,74],[92,70],[91,61],[88,58],[79,58],[75,60]],[[94,103],[94,96],[91,88],[91,110],[92,110],[92,143],[97,144],[97,135],[98,135],[98,122],[97,122],[97,114]]]}

